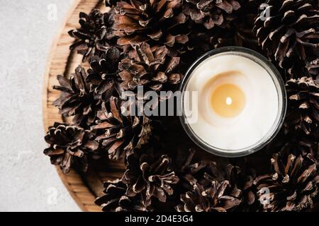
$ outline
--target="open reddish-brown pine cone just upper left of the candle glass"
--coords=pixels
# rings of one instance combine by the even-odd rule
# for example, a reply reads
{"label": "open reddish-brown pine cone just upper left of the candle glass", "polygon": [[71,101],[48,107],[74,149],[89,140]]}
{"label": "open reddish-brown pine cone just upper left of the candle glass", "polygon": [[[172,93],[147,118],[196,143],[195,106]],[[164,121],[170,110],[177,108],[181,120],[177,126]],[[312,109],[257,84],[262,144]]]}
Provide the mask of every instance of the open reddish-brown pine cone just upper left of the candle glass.
{"label": "open reddish-brown pine cone just upper left of the candle glass", "polygon": [[124,90],[135,90],[144,85],[144,90],[162,90],[164,86],[176,85],[181,81],[177,72],[179,57],[169,57],[169,50],[162,47],[150,48],[146,42],[135,46],[133,59],[123,59],[119,65]]}

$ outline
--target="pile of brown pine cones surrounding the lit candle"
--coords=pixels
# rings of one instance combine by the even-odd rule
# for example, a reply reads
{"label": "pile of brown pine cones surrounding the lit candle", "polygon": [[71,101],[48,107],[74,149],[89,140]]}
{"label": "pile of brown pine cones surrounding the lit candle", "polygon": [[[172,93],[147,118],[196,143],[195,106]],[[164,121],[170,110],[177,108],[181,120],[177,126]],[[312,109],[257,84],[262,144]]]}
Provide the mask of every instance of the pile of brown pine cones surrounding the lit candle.
{"label": "pile of brown pine cones surrounding the lit candle", "polygon": [[[83,55],[57,76],[54,105],[72,124],[49,128],[45,155],[63,172],[125,160],[105,182],[105,211],[306,211],[319,189],[318,0],[106,0],[80,13],[71,49]],[[281,133],[254,155],[201,157],[176,117],[124,116],[125,90],[177,90],[210,49],[237,45],[269,57],[286,81]],[[159,100],[165,101],[165,100]],[[178,137],[174,136],[176,133]],[[256,165],[258,167],[256,167]]]}

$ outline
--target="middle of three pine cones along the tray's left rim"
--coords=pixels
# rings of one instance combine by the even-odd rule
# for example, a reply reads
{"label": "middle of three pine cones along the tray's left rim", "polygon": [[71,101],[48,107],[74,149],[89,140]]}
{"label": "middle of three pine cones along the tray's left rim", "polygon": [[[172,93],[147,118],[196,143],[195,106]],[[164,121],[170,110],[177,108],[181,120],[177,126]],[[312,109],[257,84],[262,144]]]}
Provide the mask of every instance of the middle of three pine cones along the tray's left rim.
{"label": "middle of three pine cones along the tray's left rim", "polygon": [[60,85],[54,85],[55,90],[60,90],[60,97],[53,102],[60,109],[64,117],[73,116],[73,124],[77,126],[90,126],[96,118],[99,109],[99,101],[94,100],[94,92],[91,85],[85,82],[86,72],[82,66],[75,69],[67,80],[63,76],[57,76]]}

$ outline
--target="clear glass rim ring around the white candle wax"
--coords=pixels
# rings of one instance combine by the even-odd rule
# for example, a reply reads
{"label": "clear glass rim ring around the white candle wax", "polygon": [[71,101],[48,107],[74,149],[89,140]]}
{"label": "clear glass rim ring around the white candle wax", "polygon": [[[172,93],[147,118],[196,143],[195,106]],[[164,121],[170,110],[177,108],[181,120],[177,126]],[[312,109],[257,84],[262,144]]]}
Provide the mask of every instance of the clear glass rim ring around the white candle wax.
{"label": "clear glass rim ring around the white candle wax", "polygon": [[[247,59],[250,59],[255,63],[259,64],[259,66],[262,66],[262,68],[269,73],[269,76],[271,76],[279,98],[279,108],[278,113],[276,115],[276,120],[274,121],[272,128],[266,133],[266,135],[259,139],[257,143],[254,143],[254,145],[250,145],[247,148],[232,150],[231,152],[227,149],[216,148],[213,145],[210,145],[203,141],[200,137],[198,137],[194,133],[194,131],[192,131],[191,126],[189,126],[189,124],[185,122],[186,117],[183,108],[184,90],[186,88],[186,85],[188,84],[189,78],[191,78],[191,75],[193,71],[197,68],[197,66],[199,66],[203,61],[205,61],[209,57],[213,57],[218,54],[225,54],[228,52],[230,54],[235,54],[240,57],[246,57]],[[287,108],[287,96],[284,80],[281,77],[281,74],[279,73],[278,69],[276,69],[276,66],[274,66],[274,64],[272,64],[272,62],[269,59],[264,57],[262,54],[255,52],[252,49],[247,49],[245,47],[220,47],[218,49],[213,49],[209,52],[206,52],[205,54],[201,55],[201,57],[198,57],[198,59],[194,61],[194,63],[191,64],[191,66],[189,66],[189,69],[186,71],[185,76],[181,81],[179,90],[181,91],[181,102],[179,102],[179,105],[181,105],[182,112],[182,114],[179,116],[179,119],[181,121],[181,125],[184,128],[184,131],[186,131],[187,135],[191,138],[192,141],[194,141],[194,143],[196,143],[196,145],[198,145],[200,148],[206,150],[208,153],[211,153],[213,155],[218,155],[220,157],[243,157],[246,155],[251,155],[252,153],[256,153],[257,151],[264,148],[276,137],[276,135],[279,133],[281,129],[281,126],[284,124],[284,118],[286,116]]]}

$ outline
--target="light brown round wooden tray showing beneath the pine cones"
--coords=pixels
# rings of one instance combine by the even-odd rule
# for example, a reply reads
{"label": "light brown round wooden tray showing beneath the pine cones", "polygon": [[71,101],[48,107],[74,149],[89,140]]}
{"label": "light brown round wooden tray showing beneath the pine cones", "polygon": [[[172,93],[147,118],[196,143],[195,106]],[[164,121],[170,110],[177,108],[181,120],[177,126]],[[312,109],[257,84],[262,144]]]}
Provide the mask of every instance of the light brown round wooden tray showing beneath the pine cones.
{"label": "light brown round wooden tray showing beneath the pine cones", "polygon": [[[58,85],[57,75],[67,77],[78,65],[82,64],[82,56],[69,50],[74,38],[69,37],[67,32],[79,26],[79,12],[89,13],[93,8],[102,9],[102,6],[103,1],[101,0],[74,0],[62,28],[52,44],[47,59],[43,85],[43,124],[45,131],[55,121],[66,121],[59,114],[59,110],[52,106],[52,102],[60,96],[59,91],[52,89],[52,85]],[[107,8],[103,6],[103,10],[106,11]],[[96,165],[94,168],[89,168],[88,172],[83,174],[75,171],[63,174],[59,167],[57,167],[57,173],[69,194],[82,210],[101,211],[99,206],[94,204],[94,200],[97,196],[103,194],[103,182],[121,177],[124,168],[123,162],[110,161],[106,166]]]}

